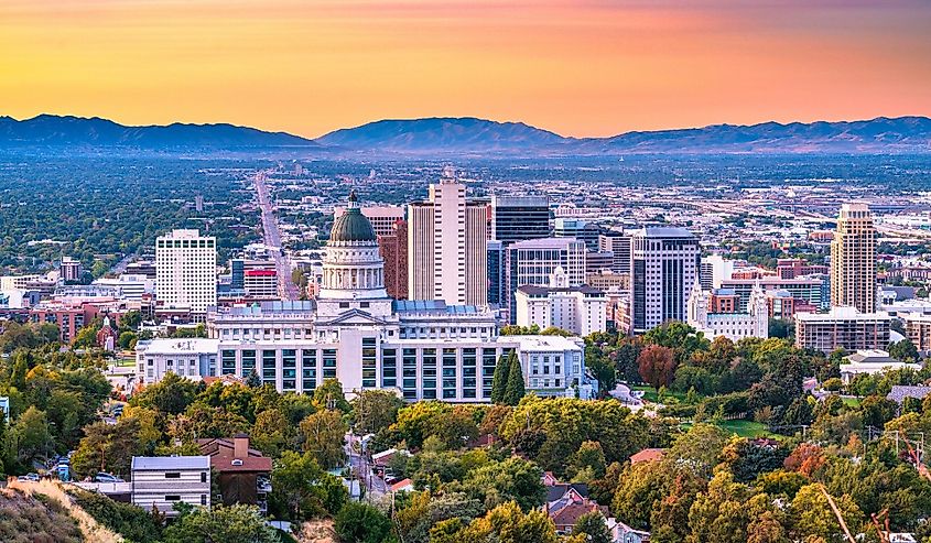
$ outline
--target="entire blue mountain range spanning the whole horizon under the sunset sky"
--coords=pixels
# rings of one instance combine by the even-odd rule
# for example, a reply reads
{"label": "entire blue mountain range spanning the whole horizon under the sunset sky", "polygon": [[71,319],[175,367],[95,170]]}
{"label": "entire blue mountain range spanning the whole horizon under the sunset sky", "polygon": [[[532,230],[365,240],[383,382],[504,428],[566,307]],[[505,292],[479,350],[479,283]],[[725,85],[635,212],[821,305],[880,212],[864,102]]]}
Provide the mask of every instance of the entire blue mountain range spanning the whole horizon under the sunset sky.
{"label": "entire blue mountain range spanning the whole horizon under the sunset sky", "polygon": [[322,153],[623,155],[630,153],[900,153],[931,152],[931,119],[879,117],[840,122],[627,132],[566,138],[522,122],[472,117],[398,119],[336,130],[315,140],[234,124],[128,127],[100,118],[0,117],[0,148],[82,146],[149,150],[294,148]]}

